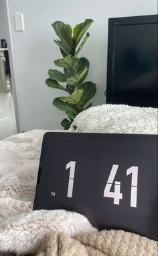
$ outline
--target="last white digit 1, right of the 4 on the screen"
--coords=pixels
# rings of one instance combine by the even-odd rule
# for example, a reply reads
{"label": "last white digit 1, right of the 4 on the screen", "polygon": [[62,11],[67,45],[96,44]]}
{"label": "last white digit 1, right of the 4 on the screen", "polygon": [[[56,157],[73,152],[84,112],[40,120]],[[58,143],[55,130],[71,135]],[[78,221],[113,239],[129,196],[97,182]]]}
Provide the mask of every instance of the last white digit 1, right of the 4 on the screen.
{"label": "last white digit 1, right of the 4 on the screen", "polygon": [[127,176],[132,174],[131,181],[131,207],[137,207],[137,185],[138,185],[138,166],[127,169]]}

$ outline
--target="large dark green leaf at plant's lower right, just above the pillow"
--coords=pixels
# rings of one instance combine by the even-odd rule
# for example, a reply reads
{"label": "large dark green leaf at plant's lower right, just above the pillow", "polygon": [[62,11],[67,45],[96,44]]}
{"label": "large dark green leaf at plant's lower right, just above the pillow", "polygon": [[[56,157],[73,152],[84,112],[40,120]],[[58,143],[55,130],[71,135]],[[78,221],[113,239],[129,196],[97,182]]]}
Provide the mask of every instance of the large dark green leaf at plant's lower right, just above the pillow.
{"label": "large dark green leaf at plant's lower right, just above the pillow", "polygon": [[80,102],[78,102],[78,107],[83,108],[90,98],[96,94],[96,84],[92,82],[85,82],[84,84],[80,85],[80,88],[84,90],[84,93],[82,94]]}

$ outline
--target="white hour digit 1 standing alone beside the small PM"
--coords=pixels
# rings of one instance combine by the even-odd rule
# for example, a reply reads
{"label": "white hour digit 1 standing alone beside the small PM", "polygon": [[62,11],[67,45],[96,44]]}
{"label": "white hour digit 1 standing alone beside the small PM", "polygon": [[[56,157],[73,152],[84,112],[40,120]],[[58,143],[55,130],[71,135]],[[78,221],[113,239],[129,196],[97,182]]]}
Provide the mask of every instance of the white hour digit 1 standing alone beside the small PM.
{"label": "white hour digit 1 standing alone beside the small PM", "polygon": [[70,168],[70,175],[69,175],[69,181],[68,181],[68,195],[67,197],[72,197],[73,187],[74,187],[74,172],[75,172],[75,161],[68,162],[66,164],[66,170]]}

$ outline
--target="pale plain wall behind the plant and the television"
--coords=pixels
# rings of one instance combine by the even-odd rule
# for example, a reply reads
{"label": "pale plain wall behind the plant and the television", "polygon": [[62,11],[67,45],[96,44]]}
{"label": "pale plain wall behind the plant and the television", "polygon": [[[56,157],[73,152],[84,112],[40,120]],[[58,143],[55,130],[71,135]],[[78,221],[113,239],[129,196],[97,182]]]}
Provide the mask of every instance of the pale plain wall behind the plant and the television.
{"label": "pale plain wall behind the plant and the television", "polygon": [[[86,18],[94,20],[80,57],[90,61],[86,80],[97,84],[93,99],[97,105],[105,103],[108,18],[157,14],[157,0],[8,1],[21,131],[62,128],[65,115],[52,100],[64,94],[45,85],[48,69],[62,57],[53,41],[57,37],[51,23],[61,20],[74,27]],[[15,32],[13,14],[18,12],[24,15],[24,32]]]}

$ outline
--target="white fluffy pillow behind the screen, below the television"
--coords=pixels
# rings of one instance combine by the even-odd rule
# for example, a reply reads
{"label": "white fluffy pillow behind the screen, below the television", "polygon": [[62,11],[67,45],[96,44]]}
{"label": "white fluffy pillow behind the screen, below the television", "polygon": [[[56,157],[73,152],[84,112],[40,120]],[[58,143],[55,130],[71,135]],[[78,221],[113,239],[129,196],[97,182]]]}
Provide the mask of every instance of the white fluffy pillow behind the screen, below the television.
{"label": "white fluffy pillow behind the screen, below the television", "polygon": [[157,134],[157,108],[103,104],[76,116],[71,132]]}

